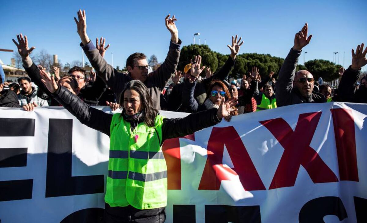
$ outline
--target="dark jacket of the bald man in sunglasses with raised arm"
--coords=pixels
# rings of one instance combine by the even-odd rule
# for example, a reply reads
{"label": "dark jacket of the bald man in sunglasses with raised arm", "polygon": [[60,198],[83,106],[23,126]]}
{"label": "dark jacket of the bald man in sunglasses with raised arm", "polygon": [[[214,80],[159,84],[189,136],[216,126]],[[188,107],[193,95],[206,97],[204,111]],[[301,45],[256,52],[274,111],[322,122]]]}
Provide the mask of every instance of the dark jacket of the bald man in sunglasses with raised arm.
{"label": "dark jacket of the bald man in sunglasses with raised arm", "polygon": [[312,92],[312,95],[309,98],[305,98],[301,95],[298,89],[293,86],[298,57],[301,55],[301,52],[302,51],[293,50],[293,48],[291,48],[287,58],[281,66],[278,81],[275,83],[277,107],[307,102],[326,102],[326,98],[323,94]]}

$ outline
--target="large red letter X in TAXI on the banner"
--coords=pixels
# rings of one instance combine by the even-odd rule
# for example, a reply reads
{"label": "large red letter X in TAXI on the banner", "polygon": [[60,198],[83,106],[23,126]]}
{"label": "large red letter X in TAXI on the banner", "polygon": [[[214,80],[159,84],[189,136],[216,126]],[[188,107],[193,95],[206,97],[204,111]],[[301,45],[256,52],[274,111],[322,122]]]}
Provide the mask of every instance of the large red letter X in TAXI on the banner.
{"label": "large red letter X in TAXI on the banner", "polygon": [[269,189],[294,186],[300,165],[306,169],[313,183],[338,182],[337,176],[310,147],[320,117],[321,112],[300,114],[294,132],[283,118],[260,122],[284,148]]}

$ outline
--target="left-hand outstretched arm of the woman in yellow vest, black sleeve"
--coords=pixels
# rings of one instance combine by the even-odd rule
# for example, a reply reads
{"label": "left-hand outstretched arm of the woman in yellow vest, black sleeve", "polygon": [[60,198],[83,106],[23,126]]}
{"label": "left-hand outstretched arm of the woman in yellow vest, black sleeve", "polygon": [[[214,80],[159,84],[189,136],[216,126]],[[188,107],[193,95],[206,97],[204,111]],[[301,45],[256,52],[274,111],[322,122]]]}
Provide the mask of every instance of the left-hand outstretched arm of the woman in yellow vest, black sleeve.
{"label": "left-hand outstretched arm of the woman in yellow vest, black sleeve", "polygon": [[110,136],[112,114],[107,114],[90,107],[65,87],[59,87],[54,77],[48,76],[43,70],[40,71],[40,74],[42,77],[41,81],[46,85],[51,96],[65,107],[65,109],[75,116],[82,124]]}

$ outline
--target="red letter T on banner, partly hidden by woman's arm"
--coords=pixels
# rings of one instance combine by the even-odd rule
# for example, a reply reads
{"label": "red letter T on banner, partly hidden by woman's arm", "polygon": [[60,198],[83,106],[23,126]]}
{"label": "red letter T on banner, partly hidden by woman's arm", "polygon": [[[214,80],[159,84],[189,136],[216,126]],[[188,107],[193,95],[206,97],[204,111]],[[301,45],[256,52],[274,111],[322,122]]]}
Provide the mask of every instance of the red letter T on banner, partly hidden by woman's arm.
{"label": "red letter T on banner, partly hidden by woman's arm", "polygon": [[[195,134],[187,135],[184,138],[195,141]],[[167,189],[181,190],[181,152],[179,138],[164,140],[162,151],[167,164]]]}

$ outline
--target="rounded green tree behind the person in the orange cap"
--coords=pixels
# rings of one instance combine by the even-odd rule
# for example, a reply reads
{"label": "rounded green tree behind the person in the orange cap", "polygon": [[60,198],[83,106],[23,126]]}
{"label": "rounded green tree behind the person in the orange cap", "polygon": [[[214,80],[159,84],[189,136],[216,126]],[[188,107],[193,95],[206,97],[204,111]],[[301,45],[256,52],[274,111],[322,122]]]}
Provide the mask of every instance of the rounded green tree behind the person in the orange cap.
{"label": "rounded green tree behind the person in the orange cap", "polygon": [[177,70],[183,71],[183,68],[190,63],[190,60],[194,58],[195,55],[201,56],[201,66],[210,67],[212,72],[215,72],[218,68],[218,58],[217,53],[210,50],[208,45],[197,45],[191,44],[182,47],[180,59],[178,62]]}

